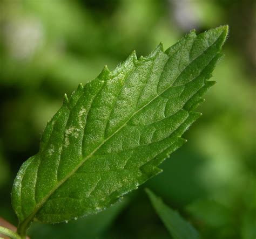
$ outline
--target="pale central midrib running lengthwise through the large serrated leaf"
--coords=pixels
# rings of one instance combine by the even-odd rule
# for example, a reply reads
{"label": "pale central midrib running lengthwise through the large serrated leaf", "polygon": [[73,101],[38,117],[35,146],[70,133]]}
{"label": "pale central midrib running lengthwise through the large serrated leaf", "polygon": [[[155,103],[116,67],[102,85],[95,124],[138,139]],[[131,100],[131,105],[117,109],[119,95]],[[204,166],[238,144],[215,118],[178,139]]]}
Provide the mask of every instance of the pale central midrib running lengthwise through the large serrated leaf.
{"label": "pale central midrib running lengthwise through the large serrated leaf", "polygon": [[[194,58],[192,61],[190,61],[190,62],[186,65],[186,67],[184,67],[183,71],[180,72],[180,74],[176,77],[176,79],[174,79],[174,81],[171,83],[171,85],[170,85],[169,87],[167,87],[167,88],[164,89],[161,93],[159,93],[159,94],[157,94],[155,97],[153,97],[153,99],[150,100],[148,103],[146,103],[143,107],[141,107],[140,109],[138,109],[137,111],[135,111],[135,112],[129,117],[129,119],[128,119],[123,125],[121,125],[121,126],[119,127],[119,129],[117,129],[116,131],[114,131],[114,132],[112,133],[112,135],[110,135],[110,136],[107,137],[105,140],[103,140],[103,142],[100,143],[100,144],[95,148],[95,150],[93,150],[88,156],[86,156],[69,174],[66,175],[65,178],[63,178],[62,180],[60,180],[60,181],[58,182],[58,184],[57,184],[55,187],[52,188],[52,190],[48,193],[48,195],[46,195],[45,198],[44,198],[41,202],[39,202],[39,203],[37,204],[37,206],[35,207],[35,210],[34,210],[28,217],[26,217],[26,219],[19,225],[19,227],[22,228],[22,226],[24,225],[24,228],[26,228],[26,225],[29,224],[29,222],[33,219],[33,217],[36,215],[36,213],[38,212],[38,210],[44,205],[44,203],[50,198],[50,196],[51,196],[66,180],[68,180],[68,179],[78,170],[78,168],[84,164],[84,162],[85,162],[87,159],[89,159],[91,156],[93,156],[93,154],[94,154],[95,152],[97,152],[97,150],[98,150],[103,144],[105,144],[105,143],[107,142],[107,140],[109,140],[110,138],[112,138],[114,135],[116,135],[117,132],[119,132],[121,129],[123,129],[124,126],[127,124],[127,122],[129,122],[129,121],[131,120],[131,118],[132,118],[134,115],[136,115],[140,110],[142,110],[142,109],[144,109],[146,106],[148,106],[152,101],[154,101],[155,99],[157,99],[157,97],[159,97],[161,94],[163,94],[167,89],[171,88],[172,85],[173,85],[173,84],[176,82],[176,80],[179,78],[179,76],[185,71],[185,69],[186,69],[189,65],[191,65],[195,60],[197,60],[199,57],[201,57],[201,55],[203,55],[203,54],[208,50],[208,48],[210,48],[211,46],[213,46],[213,45],[219,40],[219,38],[220,38],[221,36],[222,36],[222,34],[220,34],[220,36],[214,41],[213,44],[211,44],[210,46],[208,46],[205,51],[203,51],[200,55],[198,55],[198,57],[196,57],[196,58]],[[195,40],[195,39],[194,39],[194,40]],[[218,52],[219,52],[219,51],[218,51]],[[218,52],[214,55],[214,57],[218,54]],[[165,53],[165,52],[164,52],[164,53]],[[166,53],[165,53],[165,54],[166,54]],[[167,55],[167,54],[166,54],[166,55]],[[168,56],[168,55],[167,55],[167,56]],[[169,57],[169,56],[168,56],[168,57]],[[214,57],[213,57],[213,58],[214,58]],[[170,57],[169,57],[169,58],[170,58]],[[213,59],[213,58],[212,58],[212,59]],[[211,61],[210,61],[210,62],[211,62]],[[204,71],[204,69],[210,64],[210,62],[200,71],[199,75],[200,75],[200,74]],[[166,65],[166,64],[167,64],[167,61],[166,61],[165,65]],[[163,73],[163,72],[162,72],[162,73]],[[196,78],[197,78],[199,75],[197,75]],[[161,77],[161,75],[160,75],[160,77]],[[159,77],[159,79],[160,79],[160,77]]]}

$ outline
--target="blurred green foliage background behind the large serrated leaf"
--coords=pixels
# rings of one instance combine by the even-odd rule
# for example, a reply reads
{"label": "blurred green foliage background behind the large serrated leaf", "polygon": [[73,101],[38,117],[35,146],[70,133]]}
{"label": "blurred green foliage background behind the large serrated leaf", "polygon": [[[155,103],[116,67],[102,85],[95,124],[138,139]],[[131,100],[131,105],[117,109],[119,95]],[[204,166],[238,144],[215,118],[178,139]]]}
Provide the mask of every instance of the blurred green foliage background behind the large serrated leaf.
{"label": "blurred green foliage background behind the large serrated leaf", "polygon": [[202,238],[256,236],[255,3],[250,0],[0,1],[0,215],[17,224],[12,182],[37,153],[46,122],[78,83],[146,55],[191,29],[230,25],[217,84],[164,172],[117,205],[77,221],[35,224],[31,238],[170,238],[143,188],[180,211]]}

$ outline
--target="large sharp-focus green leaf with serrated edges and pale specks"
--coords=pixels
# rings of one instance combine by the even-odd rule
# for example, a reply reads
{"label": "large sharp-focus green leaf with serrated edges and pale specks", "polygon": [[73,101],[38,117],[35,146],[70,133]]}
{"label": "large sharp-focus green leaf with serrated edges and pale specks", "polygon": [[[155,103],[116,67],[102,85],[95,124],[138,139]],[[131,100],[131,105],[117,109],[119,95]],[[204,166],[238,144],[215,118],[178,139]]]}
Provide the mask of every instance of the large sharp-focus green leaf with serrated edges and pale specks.
{"label": "large sharp-focus green leaf with serrated edges and pale specks", "polygon": [[228,27],[192,31],[165,52],[131,55],[79,85],[46,125],[39,152],[21,166],[12,206],[25,234],[33,221],[56,223],[96,213],[161,170],[161,161],[200,113],[213,85]]}

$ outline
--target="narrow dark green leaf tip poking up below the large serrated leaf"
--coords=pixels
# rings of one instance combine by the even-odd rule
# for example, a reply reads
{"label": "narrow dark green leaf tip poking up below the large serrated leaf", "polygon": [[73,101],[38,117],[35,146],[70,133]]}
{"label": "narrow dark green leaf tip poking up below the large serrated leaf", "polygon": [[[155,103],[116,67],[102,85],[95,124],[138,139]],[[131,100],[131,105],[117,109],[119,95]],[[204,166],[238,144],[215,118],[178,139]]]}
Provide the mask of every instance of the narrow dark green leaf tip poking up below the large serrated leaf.
{"label": "narrow dark green leaf tip poking up below the large serrated leaf", "polygon": [[165,224],[165,227],[172,235],[173,239],[196,239],[199,238],[198,232],[190,223],[186,222],[178,212],[167,206],[150,189],[145,189],[150,201],[158,216]]}

